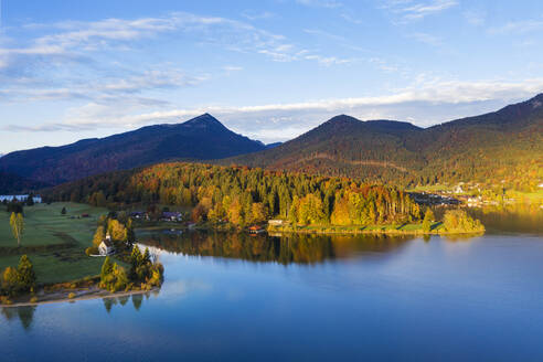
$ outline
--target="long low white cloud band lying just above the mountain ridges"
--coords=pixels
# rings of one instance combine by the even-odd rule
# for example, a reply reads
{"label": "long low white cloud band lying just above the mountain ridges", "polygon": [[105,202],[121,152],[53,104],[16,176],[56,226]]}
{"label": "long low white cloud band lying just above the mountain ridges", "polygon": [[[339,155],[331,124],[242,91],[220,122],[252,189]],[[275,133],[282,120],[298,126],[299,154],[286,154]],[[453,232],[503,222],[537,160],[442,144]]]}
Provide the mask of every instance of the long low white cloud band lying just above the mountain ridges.
{"label": "long low white cloud band lying just above the mountain ridges", "polygon": [[[91,103],[85,107],[73,109],[62,123],[40,126],[10,125],[3,130],[78,131],[104,127],[139,127],[157,123],[178,123],[203,113],[212,113],[236,131],[265,141],[273,141],[298,136],[341,113],[361,119],[408,119],[418,126],[429,126],[457,117],[489,111],[511,99],[528,98],[543,89],[543,78],[515,83],[435,79],[422,82],[426,83],[382,96],[255,106],[172,108],[138,114],[132,113],[130,107],[116,110],[115,104]],[[137,109],[136,104],[134,109]]]}

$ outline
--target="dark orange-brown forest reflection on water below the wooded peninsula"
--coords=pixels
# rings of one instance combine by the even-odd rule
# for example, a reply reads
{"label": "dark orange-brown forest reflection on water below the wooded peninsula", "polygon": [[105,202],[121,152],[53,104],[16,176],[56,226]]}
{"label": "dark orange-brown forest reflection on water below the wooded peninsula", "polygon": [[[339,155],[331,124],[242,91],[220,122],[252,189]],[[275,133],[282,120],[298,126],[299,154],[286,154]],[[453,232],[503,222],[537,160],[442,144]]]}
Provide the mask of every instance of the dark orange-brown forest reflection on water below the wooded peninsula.
{"label": "dark orange-brown forest reflection on water below the wooded peninsula", "polygon": [[248,235],[244,233],[190,232],[138,233],[139,243],[174,254],[215,256],[249,262],[316,264],[329,259],[387,252],[412,239],[387,235]]}

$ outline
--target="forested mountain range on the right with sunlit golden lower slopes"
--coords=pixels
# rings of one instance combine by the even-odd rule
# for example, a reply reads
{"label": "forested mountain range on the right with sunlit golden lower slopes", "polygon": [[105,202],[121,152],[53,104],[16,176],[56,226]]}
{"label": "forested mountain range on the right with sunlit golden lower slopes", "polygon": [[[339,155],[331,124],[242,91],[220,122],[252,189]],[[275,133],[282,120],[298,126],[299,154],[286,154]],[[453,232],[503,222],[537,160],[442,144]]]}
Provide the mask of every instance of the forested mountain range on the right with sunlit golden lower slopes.
{"label": "forested mountain range on the right with sunlit golden lower slopes", "polygon": [[533,190],[543,179],[543,94],[429,128],[341,115],[276,148],[223,163],[403,185],[475,181]]}

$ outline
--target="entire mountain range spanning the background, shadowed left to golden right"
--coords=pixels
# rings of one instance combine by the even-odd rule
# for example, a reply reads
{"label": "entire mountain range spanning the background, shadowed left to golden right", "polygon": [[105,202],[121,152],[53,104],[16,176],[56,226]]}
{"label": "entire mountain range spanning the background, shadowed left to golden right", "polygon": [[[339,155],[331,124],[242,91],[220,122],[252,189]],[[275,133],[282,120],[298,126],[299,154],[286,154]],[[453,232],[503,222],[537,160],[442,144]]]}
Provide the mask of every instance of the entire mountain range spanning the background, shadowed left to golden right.
{"label": "entire mountain range spanning the background, shadowed left to golden right", "polygon": [[212,159],[402,185],[473,181],[533,188],[543,180],[543,94],[429,128],[340,115],[288,142],[268,146],[205,114],[182,124],[6,155],[0,172],[11,181],[0,192],[167,160]]}

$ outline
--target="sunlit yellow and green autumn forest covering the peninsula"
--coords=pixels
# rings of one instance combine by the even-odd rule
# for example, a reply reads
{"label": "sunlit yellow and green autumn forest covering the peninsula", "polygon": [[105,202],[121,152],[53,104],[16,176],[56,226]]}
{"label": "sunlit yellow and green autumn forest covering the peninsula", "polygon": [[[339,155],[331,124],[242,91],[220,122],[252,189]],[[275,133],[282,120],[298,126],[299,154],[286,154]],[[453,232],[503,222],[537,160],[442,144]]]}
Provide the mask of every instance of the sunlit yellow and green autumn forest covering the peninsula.
{"label": "sunlit yellow and green autumn forest covering the peninsula", "polygon": [[119,209],[138,203],[192,206],[196,222],[237,226],[269,217],[299,225],[390,224],[422,217],[418,204],[395,187],[185,162],[91,177],[46,190],[42,198]]}

